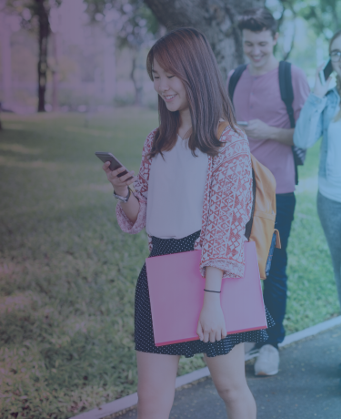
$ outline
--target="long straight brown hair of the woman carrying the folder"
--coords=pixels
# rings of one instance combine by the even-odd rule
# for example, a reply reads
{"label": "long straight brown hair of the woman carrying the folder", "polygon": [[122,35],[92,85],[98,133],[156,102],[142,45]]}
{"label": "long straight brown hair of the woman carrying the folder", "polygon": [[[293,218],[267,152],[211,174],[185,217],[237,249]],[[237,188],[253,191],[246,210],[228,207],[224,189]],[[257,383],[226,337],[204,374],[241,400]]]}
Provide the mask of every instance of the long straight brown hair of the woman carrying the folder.
{"label": "long straight brown hair of the woman carrying the folder", "polygon": [[[196,29],[176,29],[152,46],[146,58],[146,68],[153,80],[154,60],[167,72],[178,77],[186,89],[192,119],[188,147],[196,156],[200,151],[216,156],[222,143],[216,138],[219,119],[223,118],[236,130],[236,118],[227,97],[216,57],[206,37]],[[179,111],[170,112],[165,101],[158,97],[159,128],[155,132],[149,158],[169,151],[176,145],[180,127]]]}

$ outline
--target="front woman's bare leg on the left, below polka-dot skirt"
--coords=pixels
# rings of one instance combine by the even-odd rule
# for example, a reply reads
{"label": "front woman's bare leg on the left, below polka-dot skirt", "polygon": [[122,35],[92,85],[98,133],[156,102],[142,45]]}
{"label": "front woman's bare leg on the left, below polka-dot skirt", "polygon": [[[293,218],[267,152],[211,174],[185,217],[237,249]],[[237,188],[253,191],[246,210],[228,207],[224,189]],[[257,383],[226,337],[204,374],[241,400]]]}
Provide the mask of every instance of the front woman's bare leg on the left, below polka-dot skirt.
{"label": "front woman's bare leg on the left, below polka-dot skirt", "polygon": [[180,356],[136,351],[136,358],[138,419],[168,419],[176,392]]}

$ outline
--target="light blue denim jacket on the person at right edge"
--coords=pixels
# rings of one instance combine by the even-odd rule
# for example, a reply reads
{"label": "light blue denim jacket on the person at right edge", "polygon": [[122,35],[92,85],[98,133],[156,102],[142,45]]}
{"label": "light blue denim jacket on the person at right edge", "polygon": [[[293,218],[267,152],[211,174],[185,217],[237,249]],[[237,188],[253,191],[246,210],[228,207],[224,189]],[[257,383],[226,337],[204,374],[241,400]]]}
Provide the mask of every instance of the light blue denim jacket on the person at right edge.
{"label": "light blue denim jacket on the person at right edge", "polygon": [[327,151],[328,127],[339,105],[340,97],[336,88],[330,90],[325,97],[317,97],[314,93],[310,93],[296,122],[294,144],[297,147],[310,148],[323,136],[318,170],[320,178],[328,179],[328,174],[338,172],[338,168],[329,167]]}

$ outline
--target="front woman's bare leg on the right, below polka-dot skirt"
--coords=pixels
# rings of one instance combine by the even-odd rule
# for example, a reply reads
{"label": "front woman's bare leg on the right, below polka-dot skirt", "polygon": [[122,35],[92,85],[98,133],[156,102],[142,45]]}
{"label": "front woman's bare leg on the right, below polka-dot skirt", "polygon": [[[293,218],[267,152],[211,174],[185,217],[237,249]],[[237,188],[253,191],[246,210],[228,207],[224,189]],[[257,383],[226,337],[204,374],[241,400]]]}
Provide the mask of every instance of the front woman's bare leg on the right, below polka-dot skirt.
{"label": "front woman's bare leg on the right, below polka-dot skirt", "polygon": [[256,419],[256,402],[246,383],[244,343],[226,355],[205,355],[205,361],[228,419]]}

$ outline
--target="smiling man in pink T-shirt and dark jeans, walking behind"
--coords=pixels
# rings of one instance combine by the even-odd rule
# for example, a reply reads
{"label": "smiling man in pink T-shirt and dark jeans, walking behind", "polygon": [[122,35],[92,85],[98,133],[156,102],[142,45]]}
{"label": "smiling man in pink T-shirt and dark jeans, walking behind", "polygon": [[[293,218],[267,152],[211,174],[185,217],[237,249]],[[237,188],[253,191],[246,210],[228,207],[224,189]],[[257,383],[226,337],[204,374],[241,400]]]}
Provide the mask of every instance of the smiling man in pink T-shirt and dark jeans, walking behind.
{"label": "smiling man in pink T-shirt and dark jeans, walking behind", "polygon": [[[292,150],[295,128],[291,128],[280,93],[279,63],[274,56],[278,38],[276,20],[266,8],[250,9],[240,17],[238,26],[243,33],[243,48],[249,64],[238,79],[231,99],[236,119],[247,122],[243,128],[252,154],[271,170],[276,179],[276,229],[280,232],[282,249],[274,251],[270,274],[264,283],[265,304],[276,326],[268,329],[268,341],[257,344],[252,350],[259,352],[256,375],[273,375],[278,372],[278,343],[285,338],[286,246],[296,204],[296,167]],[[229,74],[227,88],[234,71]],[[291,78],[296,120],[310,90],[304,72],[296,66],[291,66]]]}

